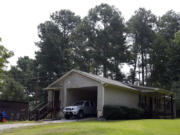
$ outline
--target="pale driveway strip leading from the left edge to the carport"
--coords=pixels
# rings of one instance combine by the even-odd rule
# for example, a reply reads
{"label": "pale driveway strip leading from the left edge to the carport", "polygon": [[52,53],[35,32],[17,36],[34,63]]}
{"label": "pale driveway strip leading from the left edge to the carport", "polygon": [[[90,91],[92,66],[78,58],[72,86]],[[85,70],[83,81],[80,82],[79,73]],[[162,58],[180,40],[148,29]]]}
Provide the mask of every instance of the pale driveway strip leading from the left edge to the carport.
{"label": "pale driveway strip leading from the left edge to the carport", "polygon": [[95,118],[86,118],[81,120],[53,120],[53,121],[38,121],[35,123],[15,123],[15,124],[1,124],[0,125],[0,133],[4,130],[8,130],[11,128],[19,128],[19,127],[25,127],[25,126],[35,126],[35,125],[43,125],[43,124],[51,124],[51,123],[67,123],[67,122],[75,122],[75,121],[87,121],[87,120],[95,120]]}

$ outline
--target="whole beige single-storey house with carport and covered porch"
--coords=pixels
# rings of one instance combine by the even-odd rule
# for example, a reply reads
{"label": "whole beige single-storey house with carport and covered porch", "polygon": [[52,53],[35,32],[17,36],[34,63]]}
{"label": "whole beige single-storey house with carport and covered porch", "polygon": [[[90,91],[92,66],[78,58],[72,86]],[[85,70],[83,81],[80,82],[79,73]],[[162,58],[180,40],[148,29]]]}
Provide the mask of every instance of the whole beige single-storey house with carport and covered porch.
{"label": "whole beige single-storey house with carport and covered porch", "polygon": [[97,103],[97,117],[103,116],[105,105],[142,108],[152,112],[152,117],[175,117],[175,93],[159,88],[127,85],[94,74],[71,70],[50,84],[48,103],[56,116],[62,109],[78,100]]}

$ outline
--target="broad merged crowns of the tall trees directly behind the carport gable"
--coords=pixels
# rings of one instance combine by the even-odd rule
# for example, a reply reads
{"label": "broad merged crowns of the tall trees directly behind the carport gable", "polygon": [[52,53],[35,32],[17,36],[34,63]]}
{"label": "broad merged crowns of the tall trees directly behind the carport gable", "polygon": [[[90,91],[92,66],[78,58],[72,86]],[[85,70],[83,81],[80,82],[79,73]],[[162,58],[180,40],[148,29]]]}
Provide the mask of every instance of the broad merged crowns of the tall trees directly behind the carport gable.
{"label": "broad merged crowns of the tall trees directly behind the carport gable", "polygon": [[129,51],[124,19],[115,7],[101,4],[82,20],[69,10],[56,11],[38,30],[36,61],[46,84],[72,68],[122,80],[119,66]]}

